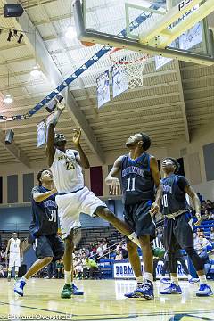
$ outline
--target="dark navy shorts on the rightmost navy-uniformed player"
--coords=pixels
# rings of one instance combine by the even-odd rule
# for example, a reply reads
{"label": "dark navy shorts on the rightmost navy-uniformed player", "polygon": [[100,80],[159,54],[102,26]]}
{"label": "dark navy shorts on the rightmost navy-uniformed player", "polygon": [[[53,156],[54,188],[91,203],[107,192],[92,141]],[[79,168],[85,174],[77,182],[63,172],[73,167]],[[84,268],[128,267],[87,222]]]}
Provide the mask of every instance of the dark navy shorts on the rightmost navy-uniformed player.
{"label": "dark navy shorts on the rightmost navy-uniformed player", "polygon": [[193,224],[190,212],[181,214],[175,219],[165,218],[163,239],[168,253],[193,247]]}

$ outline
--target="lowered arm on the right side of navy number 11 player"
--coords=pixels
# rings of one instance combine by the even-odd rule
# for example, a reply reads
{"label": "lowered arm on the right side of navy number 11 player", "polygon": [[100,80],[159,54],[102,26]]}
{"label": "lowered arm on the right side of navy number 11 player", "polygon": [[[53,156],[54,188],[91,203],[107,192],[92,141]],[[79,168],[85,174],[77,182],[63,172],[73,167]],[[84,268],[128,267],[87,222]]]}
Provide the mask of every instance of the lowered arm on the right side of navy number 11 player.
{"label": "lowered arm on the right side of navy number 11 player", "polygon": [[152,178],[154,180],[154,185],[156,187],[155,201],[152,203],[152,207],[150,210],[151,214],[153,215],[153,214],[157,214],[160,209],[161,195],[162,195],[161,177],[160,177],[160,171],[158,168],[158,162],[153,156],[151,156],[151,159],[150,159],[150,168],[152,172]]}

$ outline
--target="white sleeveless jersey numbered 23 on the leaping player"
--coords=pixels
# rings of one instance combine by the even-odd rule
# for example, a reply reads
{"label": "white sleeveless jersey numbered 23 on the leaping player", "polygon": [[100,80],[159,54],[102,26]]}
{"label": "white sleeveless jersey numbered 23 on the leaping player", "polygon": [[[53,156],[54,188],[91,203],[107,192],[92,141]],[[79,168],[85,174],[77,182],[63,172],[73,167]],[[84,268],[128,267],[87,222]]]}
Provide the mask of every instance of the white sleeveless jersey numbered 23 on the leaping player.
{"label": "white sleeveless jersey numbered 23 on the leaping player", "polygon": [[84,177],[81,166],[78,165],[75,155],[78,152],[66,150],[61,152],[55,150],[51,171],[54,177],[54,184],[58,193],[76,192],[84,187]]}

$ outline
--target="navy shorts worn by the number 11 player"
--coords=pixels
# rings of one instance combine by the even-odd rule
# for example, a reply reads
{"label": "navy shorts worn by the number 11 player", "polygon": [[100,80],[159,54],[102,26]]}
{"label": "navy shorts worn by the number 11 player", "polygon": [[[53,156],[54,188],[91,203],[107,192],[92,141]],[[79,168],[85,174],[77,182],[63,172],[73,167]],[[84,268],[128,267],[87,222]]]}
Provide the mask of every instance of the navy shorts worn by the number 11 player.
{"label": "navy shorts worn by the number 11 player", "polygon": [[136,235],[150,235],[151,241],[155,239],[155,224],[150,214],[152,201],[141,201],[136,204],[124,205],[124,218],[133,228]]}

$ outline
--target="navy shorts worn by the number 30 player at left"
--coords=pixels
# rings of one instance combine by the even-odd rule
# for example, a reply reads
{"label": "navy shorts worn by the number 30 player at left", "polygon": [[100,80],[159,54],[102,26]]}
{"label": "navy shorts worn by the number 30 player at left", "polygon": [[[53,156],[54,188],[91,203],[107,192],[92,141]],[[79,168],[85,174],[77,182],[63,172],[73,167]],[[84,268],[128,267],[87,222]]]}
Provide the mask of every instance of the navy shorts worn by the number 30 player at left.
{"label": "navy shorts worn by the number 30 player at left", "polygon": [[37,236],[34,245],[38,259],[52,257],[55,261],[64,254],[64,243],[58,235]]}

